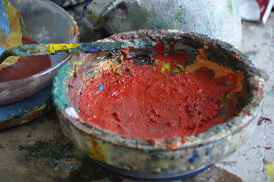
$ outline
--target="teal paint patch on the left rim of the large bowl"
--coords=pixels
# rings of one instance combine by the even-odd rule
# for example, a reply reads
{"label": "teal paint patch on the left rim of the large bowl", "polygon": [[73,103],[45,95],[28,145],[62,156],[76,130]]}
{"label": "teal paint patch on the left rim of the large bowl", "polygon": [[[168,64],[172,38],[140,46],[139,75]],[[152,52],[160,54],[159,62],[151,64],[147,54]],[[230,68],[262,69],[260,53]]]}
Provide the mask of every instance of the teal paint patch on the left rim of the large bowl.
{"label": "teal paint patch on the left rim of the large bowl", "polygon": [[58,74],[55,76],[53,80],[53,101],[57,109],[69,108],[71,105],[69,101],[66,99],[65,93],[65,83],[64,79],[69,77],[69,70],[71,69],[71,64],[66,62],[62,65]]}

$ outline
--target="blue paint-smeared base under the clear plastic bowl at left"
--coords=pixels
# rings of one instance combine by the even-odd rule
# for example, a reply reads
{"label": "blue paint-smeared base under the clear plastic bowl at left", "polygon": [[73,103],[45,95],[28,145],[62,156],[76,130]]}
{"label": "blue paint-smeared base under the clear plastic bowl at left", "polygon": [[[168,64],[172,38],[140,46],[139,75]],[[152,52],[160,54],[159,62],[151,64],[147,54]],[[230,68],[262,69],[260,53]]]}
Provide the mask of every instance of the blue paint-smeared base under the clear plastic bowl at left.
{"label": "blue paint-smeared base under the clear plastic bowl at left", "polygon": [[26,99],[0,105],[0,130],[22,125],[47,113],[52,105],[51,88],[52,84],[49,84]]}

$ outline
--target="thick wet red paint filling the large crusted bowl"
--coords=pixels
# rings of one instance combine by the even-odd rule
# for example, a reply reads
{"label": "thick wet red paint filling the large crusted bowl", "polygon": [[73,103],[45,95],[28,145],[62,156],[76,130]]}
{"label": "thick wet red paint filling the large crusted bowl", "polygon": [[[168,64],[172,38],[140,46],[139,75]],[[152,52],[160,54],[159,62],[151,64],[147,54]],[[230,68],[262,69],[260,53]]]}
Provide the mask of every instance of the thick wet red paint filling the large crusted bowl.
{"label": "thick wet red paint filling the large crusted bowl", "polygon": [[246,93],[242,73],[210,62],[205,49],[195,56],[188,49],[159,41],[153,55],[123,49],[96,57],[104,61],[87,77],[78,70],[75,81],[84,85],[69,92],[77,94],[79,116],[127,138],[171,139],[238,114],[238,96]]}

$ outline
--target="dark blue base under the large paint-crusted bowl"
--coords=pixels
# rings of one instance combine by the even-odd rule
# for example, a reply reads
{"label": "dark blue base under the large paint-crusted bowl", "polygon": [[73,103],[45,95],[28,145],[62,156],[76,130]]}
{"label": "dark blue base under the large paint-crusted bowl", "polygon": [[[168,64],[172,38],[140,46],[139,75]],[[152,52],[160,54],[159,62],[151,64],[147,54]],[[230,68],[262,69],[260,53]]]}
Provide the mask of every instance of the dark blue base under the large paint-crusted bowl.
{"label": "dark blue base under the large paint-crusted bowl", "polygon": [[122,179],[131,179],[135,181],[176,181],[176,180],[188,179],[190,177],[194,177],[195,175],[213,166],[213,164],[211,164],[208,166],[197,168],[195,170],[189,170],[186,172],[175,173],[175,174],[153,174],[153,173],[148,174],[145,172],[136,172],[136,171],[125,170],[123,168],[116,168],[108,164],[103,164],[99,161],[95,161],[94,159],[91,159],[88,156],[86,157],[92,164],[94,164],[95,166],[98,166],[99,168],[105,170],[106,172],[109,172],[110,174],[116,177],[119,177]]}

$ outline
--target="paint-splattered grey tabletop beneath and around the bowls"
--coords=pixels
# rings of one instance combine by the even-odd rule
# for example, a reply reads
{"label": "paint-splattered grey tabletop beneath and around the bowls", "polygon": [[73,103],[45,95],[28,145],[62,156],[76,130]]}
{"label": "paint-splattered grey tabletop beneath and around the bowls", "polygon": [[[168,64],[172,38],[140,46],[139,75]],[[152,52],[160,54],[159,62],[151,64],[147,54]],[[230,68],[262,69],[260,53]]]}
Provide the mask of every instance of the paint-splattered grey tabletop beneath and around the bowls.
{"label": "paint-splattered grey tabletop beneath and around the bowls", "polygon": [[[80,12],[71,11],[87,29]],[[274,12],[266,25],[243,22],[242,51],[264,70],[266,99],[255,132],[236,153],[186,181],[270,181],[266,168],[274,162]],[[101,38],[95,34],[91,40]],[[273,166],[274,167],[274,166]],[[270,172],[269,172],[270,173]],[[272,173],[274,175],[274,171]],[[126,181],[90,164],[60,131],[52,110],[19,127],[0,131],[0,181]]]}

